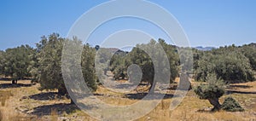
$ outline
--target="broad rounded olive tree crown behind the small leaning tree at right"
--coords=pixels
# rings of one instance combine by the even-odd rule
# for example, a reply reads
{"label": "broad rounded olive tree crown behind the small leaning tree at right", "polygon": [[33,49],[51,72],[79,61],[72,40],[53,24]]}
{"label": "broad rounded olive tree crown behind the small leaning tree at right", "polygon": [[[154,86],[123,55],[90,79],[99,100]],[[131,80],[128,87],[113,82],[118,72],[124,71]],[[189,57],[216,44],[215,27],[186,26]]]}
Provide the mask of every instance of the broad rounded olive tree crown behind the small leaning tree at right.
{"label": "broad rounded olive tree crown behind the small leaning tree at right", "polygon": [[202,81],[207,73],[216,73],[228,83],[253,81],[250,61],[235,46],[204,52],[196,60],[195,80]]}

